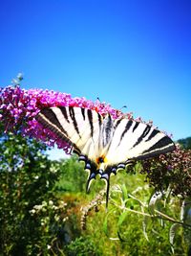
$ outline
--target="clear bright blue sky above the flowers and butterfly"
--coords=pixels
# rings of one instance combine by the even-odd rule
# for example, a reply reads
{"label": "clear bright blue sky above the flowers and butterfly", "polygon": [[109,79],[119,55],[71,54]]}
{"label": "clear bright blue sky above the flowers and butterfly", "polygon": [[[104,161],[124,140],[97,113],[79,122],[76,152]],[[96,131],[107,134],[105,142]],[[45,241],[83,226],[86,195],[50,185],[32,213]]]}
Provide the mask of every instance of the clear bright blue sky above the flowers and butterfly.
{"label": "clear bright blue sky above the flowers and butterfly", "polygon": [[1,0],[0,85],[127,105],[191,135],[190,0]]}

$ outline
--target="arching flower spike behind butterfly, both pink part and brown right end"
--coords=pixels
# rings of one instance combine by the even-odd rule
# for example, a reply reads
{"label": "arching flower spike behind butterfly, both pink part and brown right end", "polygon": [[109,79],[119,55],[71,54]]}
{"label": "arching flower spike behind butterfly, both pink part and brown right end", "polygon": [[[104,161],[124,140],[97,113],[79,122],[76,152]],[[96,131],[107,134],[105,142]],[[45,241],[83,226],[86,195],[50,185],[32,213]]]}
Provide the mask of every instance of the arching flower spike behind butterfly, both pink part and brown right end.
{"label": "arching flower spike behind butterfly, both pink part and brown right end", "polygon": [[[20,81],[20,80],[19,80]],[[96,110],[99,114],[110,113],[113,118],[125,116],[132,119],[132,113],[123,114],[111,105],[88,101],[85,98],[72,98],[70,94],[54,92],[53,90],[25,90],[17,82],[14,86],[0,88],[0,122],[6,131],[21,132],[24,136],[32,136],[49,146],[57,144],[66,153],[71,152],[71,146],[61,140],[48,128],[43,128],[36,120],[36,114],[44,107],[79,106]],[[143,122],[140,118],[139,122]],[[148,123],[150,126],[153,124]],[[174,195],[191,196],[190,174],[191,151],[178,149],[155,159],[142,162],[142,173],[146,173],[150,183],[156,189],[162,190],[169,183],[173,186]],[[172,172],[173,170],[173,172]]]}

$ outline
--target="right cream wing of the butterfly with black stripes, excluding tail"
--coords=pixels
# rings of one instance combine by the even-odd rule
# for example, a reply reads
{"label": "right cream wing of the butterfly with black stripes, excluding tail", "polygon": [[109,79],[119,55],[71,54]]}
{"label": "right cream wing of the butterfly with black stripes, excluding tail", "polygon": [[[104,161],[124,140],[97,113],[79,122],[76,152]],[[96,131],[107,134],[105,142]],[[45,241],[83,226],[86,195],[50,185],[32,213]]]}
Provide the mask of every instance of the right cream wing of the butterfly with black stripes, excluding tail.
{"label": "right cream wing of the butterfly with black stripes, excluding tail", "polygon": [[166,134],[147,124],[120,118],[114,121],[114,128],[113,140],[106,155],[111,165],[175,150],[175,144]]}

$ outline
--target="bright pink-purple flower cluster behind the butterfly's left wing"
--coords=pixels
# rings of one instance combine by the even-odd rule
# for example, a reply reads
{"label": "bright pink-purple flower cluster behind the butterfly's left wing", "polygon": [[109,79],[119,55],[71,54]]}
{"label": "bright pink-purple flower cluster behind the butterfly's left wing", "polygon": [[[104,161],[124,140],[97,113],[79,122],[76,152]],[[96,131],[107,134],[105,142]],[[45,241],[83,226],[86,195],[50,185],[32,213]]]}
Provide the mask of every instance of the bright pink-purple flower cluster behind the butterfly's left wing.
{"label": "bright pink-purple flower cluster behind the butterfly's left wing", "polygon": [[[35,120],[36,114],[42,108],[57,105],[95,109],[101,115],[110,113],[114,118],[122,115],[121,111],[112,108],[111,105],[100,103],[98,100],[93,103],[85,98],[72,98],[70,94],[54,92],[53,90],[25,90],[18,84],[0,88],[0,121],[5,126],[6,131],[21,131],[24,136],[36,137],[49,146],[54,146],[56,143],[58,148],[69,153],[71,146],[67,142],[58,138],[48,128],[43,128]],[[131,113],[127,116],[132,117]]]}

